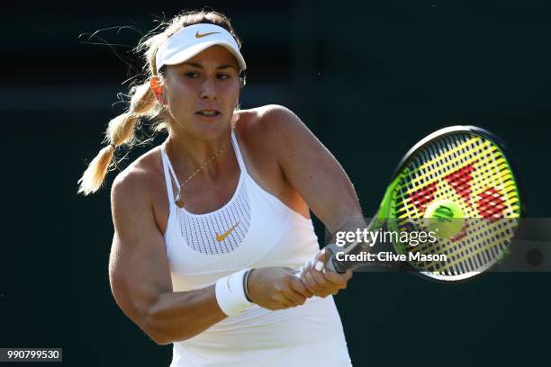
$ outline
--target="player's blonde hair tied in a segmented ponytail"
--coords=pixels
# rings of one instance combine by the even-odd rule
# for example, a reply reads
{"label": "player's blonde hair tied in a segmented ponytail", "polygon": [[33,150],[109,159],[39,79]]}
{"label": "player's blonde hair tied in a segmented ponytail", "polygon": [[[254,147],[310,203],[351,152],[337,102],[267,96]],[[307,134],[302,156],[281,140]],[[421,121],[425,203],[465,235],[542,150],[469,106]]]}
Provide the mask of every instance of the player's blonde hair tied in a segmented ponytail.
{"label": "player's blonde hair tied in a segmented ponytail", "polygon": [[[140,119],[145,118],[154,121],[154,132],[168,130],[167,121],[163,118],[166,110],[155,99],[155,95],[151,92],[149,86],[151,76],[159,76],[155,65],[155,57],[159,45],[168,37],[184,27],[198,23],[211,23],[221,26],[231,33],[239,48],[241,47],[241,42],[235,31],[233,31],[230,20],[225,15],[214,11],[192,11],[178,14],[171,21],[163,22],[156,28],[156,30],[162,29],[162,31],[155,34],[149,33],[140,40],[140,44],[135,51],[145,58],[145,82],[131,87],[127,95],[130,98],[127,111],[109,121],[104,139],[104,142],[109,143],[109,145],[99,151],[78,180],[79,193],[88,195],[100,189],[107,173],[113,170],[119,162],[116,158],[113,159],[117,147],[125,145],[126,148],[130,149],[139,143],[135,131],[140,129]],[[162,76],[162,73],[163,69],[161,68],[160,76]],[[244,76],[240,76],[240,78],[241,85],[244,85]]]}

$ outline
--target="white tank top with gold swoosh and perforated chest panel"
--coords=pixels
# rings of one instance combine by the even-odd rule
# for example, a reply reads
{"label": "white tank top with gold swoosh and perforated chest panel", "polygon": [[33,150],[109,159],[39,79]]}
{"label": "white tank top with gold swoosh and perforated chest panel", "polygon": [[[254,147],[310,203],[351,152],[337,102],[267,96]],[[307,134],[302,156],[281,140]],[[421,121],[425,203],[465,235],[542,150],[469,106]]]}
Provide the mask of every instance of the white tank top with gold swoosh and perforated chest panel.
{"label": "white tank top with gold swoosh and perforated chest panel", "polygon": [[[194,214],[175,203],[174,169],[161,147],[169,215],[165,243],[173,291],[193,291],[249,268],[298,268],[319,250],[311,219],[287,207],[248,175],[231,131],[239,183],[219,210]],[[257,305],[198,336],[174,343],[171,367],[350,365],[339,313],[331,296],[270,311]],[[313,364],[312,364],[313,363]]]}

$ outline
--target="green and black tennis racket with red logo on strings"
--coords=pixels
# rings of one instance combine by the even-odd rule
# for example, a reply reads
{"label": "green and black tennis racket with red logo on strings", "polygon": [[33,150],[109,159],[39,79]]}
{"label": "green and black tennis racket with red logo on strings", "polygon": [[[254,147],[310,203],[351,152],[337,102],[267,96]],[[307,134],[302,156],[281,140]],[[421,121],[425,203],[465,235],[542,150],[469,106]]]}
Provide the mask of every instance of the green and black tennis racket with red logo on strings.
{"label": "green and black tennis racket with red logo on strings", "polygon": [[[489,131],[473,126],[438,130],[402,158],[367,230],[407,235],[432,229],[437,234],[432,242],[392,238],[396,254],[406,255],[403,264],[438,281],[471,278],[509,252],[523,215],[517,177],[506,148]],[[331,242],[325,247],[326,269],[344,273],[365,265],[342,261],[342,255],[368,252],[374,245]]]}

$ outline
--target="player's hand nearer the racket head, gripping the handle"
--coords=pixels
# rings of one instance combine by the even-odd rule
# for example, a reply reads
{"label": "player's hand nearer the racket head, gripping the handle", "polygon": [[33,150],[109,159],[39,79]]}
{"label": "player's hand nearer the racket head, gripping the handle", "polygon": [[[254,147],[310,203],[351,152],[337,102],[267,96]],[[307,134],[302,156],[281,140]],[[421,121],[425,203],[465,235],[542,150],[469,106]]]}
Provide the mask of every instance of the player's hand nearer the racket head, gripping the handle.
{"label": "player's hand nearer the racket head, gripping the handle", "polygon": [[346,289],[348,281],[352,278],[352,272],[350,271],[342,274],[324,271],[326,261],[325,252],[321,250],[314,261],[303,266],[303,272],[301,273],[304,286],[314,296],[321,298],[325,298],[330,294],[335,295],[340,290]]}

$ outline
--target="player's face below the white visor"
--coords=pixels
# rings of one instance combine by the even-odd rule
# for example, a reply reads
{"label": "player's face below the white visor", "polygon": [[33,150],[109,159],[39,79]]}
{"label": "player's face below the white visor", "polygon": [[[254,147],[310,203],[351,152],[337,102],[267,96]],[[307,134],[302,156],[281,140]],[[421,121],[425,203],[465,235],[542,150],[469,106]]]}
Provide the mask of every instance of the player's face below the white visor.
{"label": "player's face below the white visor", "polygon": [[[167,65],[158,100],[166,101],[171,128],[214,139],[230,126],[239,101],[239,67],[228,49],[212,46],[182,64]],[[159,82],[157,80],[157,82]]]}

